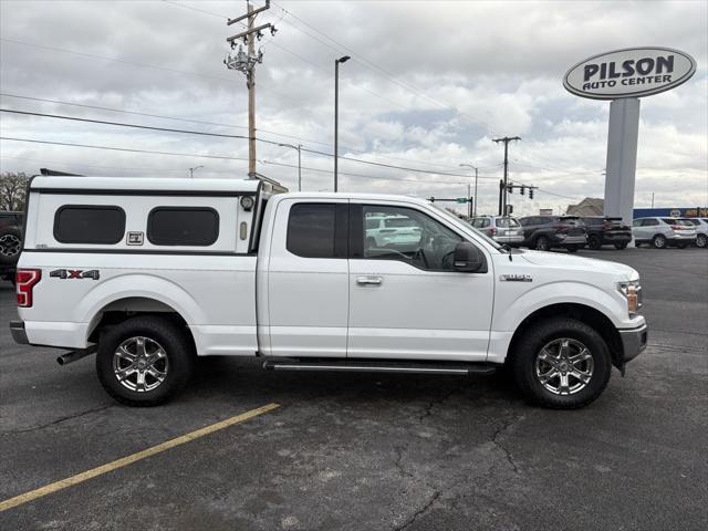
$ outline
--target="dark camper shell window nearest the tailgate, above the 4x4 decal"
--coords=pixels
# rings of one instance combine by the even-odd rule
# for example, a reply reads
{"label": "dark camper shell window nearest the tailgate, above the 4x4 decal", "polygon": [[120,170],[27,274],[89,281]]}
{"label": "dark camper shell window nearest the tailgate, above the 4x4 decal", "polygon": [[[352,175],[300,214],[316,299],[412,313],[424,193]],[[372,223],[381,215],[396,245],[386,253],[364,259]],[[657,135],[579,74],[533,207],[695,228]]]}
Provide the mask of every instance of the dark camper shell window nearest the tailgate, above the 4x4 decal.
{"label": "dark camper shell window nearest the tailgate, above the 4x4 decal", "polygon": [[60,243],[110,243],[123,240],[125,211],[102,205],[64,205],[54,215],[54,239]]}

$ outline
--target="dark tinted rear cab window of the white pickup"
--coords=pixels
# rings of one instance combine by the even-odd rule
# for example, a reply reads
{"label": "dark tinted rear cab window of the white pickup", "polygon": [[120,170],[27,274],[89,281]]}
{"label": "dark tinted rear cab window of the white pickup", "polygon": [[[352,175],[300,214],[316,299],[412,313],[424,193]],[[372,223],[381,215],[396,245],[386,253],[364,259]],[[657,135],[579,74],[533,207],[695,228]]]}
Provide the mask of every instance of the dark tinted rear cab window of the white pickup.
{"label": "dark tinted rear cab window of the white pickup", "polygon": [[335,219],[332,204],[293,205],[285,248],[303,258],[334,258]]}

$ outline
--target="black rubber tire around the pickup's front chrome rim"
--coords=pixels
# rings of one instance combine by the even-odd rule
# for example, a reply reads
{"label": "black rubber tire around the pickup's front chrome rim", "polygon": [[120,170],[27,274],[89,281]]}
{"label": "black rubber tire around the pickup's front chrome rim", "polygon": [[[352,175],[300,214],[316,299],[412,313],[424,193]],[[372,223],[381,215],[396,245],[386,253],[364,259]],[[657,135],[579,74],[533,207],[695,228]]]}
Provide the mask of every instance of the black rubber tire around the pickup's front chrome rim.
{"label": "black rubber tire around the pickup's front chrome rim", "polygon": [[[586,363],[585,367],[590,366],[592,372],[590,379],[580,388],[572,391],[573,386],[570,386],[568,388],[569,394],[555,394],[544,387],[540,379],[541,376],[538,375],[538,367],[544,363],[540,357],[541,351],[552,345],[553,342],[562,343],[565,340],[571,343],[569,348],[575,343],[586,348],[592,357],[592,365],[590,365],[590,361],[583,363]],[[610,382],[612,361],[607,345],[602,336],[585,323],[573,319],[552,317],[531,325],[523,332],[522,337],[514,343],[514,352],[511,353],[510,361],[511,372],[521,393],[532,404],[553,409],[576,409],[595,400],[607,386],[607,382]],[[569,352],[581,352],[576,346],[573,346],[573,348],[576,350]],[[571,365],[568,365],[568,363],[564,366],[566,372],[563,373],[569,375],[566,384],[572,377],[574,378],[573,382],[576,382],[575,385],[581,385],[580,379],[571,376],[569,369]],[[549,364],[549,366],[551,365]],[[559,374],[558,382],[560,387],[562,381],[559,367],[560,362],[559,365],[551,366],[551,369],[555,369]],[[553,387],[553,382],[555,382],[555,378],[551,378],[546,383]]]}

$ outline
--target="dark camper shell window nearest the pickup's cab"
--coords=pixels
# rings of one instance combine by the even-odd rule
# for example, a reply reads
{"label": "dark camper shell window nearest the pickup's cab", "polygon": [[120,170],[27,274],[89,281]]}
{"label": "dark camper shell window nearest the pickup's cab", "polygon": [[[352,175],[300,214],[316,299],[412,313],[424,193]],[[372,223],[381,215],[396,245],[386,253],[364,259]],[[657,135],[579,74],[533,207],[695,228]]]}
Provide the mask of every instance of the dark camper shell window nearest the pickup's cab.
{"label": "dark camper shell window nearest the pickup's cab", "polygon": [[219,238],[219,215],[208,207],[156,207],[147,217],[154,246],[211,246]]}

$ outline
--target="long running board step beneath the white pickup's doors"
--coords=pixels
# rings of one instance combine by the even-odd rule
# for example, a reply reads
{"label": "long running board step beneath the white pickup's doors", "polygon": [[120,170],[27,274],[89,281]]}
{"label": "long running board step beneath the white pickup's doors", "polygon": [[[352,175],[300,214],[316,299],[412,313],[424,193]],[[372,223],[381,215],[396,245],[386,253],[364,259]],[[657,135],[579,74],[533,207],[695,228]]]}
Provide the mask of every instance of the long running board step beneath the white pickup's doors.
{"label": "long running board step beneath the white pickup's doors", "polygon": [[408,374],[493,374],[497,368],[487,364],[415,363],[371,361],[296,361],[269,360],[263,363],[269,371],[332,371],[351,373],[408,373]]}

